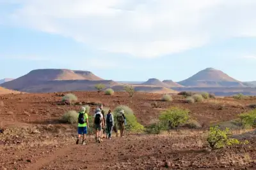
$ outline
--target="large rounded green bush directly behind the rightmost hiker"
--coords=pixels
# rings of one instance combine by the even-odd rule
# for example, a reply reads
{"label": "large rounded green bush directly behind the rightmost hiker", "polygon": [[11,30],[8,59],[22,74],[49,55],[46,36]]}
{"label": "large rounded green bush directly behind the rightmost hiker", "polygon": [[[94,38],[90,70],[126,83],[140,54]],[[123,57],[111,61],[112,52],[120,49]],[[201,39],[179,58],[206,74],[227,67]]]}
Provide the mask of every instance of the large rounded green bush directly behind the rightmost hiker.
{"label": "large rounded green bush directly behind the rightmost hiker", "polygon": [[[116,116],[120,112],[120,110],[124,110],[124,114],[125,114],[126,121],[127,121],[127,125],[125,127],[126,131],[129,131],[129,132],[142,132],[144,130],[143,125],[141,125],[137,121],[137,118],[135,117],[132,109],[129,108],[128,106],[124,106],[124,105],[117,106],[113,110],[113,114],[114,114],[114,119],[115,120],[116,120]],[[117,123],[117,122],[115,121],[115,123]]]}

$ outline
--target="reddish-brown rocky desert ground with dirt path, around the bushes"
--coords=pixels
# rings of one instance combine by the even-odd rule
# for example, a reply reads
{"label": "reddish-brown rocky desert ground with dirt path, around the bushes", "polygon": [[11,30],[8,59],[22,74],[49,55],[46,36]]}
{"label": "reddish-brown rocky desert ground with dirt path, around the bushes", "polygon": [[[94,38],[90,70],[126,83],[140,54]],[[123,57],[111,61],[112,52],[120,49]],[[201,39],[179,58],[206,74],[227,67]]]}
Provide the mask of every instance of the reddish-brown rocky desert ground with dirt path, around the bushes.
{"label": "reddish-brown rocky desert ground with dirt path, around the bushes", "polygon": [[[64,94],[67,94],[65,92]],[[80,105],[59,105],[60,93],[4,94],[0,96],[0,169],[256,169],[253,129],[238,129],[248,145],[228,146],[219,150],[206,147],[209,126],[237,118],[250,111],[256,97],[236,100],[232,97],[207,99],[202,103],[185,103],[184,97],[173,95],[172,102],[161,101],[163,94],[125,92],[113,96],[97,92],[72,92],[81,104],[95,103],[115,108],[127,105],[138,122],[147,126],[159,113],[172,106],[186,108],[202,125],[186,127],[161,134],[125,134],[113,140],[95,143],[88,135],[86,145],[76,145],[76,124],[63,124],[61,116]]]}

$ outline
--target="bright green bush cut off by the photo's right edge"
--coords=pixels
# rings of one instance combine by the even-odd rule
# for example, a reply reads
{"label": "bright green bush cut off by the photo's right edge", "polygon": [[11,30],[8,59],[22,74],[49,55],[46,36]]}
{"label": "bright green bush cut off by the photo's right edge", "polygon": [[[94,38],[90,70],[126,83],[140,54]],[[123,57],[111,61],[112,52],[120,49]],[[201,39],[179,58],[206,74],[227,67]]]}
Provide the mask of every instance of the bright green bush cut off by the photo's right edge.
{"label": "bright green bush cut off by the photo's right edge", "polygon": [[247,113],[242,113],[239,115],[244,128],[256,127],[256,110],[249,111]]}

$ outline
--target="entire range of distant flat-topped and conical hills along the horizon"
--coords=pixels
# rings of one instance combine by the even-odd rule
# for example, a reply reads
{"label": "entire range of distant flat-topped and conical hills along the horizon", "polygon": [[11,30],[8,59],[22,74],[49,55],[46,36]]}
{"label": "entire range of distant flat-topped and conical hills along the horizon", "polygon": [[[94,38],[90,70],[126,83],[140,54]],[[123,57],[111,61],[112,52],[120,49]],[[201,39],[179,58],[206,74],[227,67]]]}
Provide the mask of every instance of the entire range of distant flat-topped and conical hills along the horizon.
{"label": "entire range of distant flat-topped and conical hills along the horizon", "polygon": [[224,96],[238,92],[256,95],[256,81],[242,82],[214,68],[206,68],[179,82],[160,81],[157,78],[150,78],[147,81],[113,81],[104,80],[90,71],[36,69],[15,80],[4,79],[0,83],[1,87],[22,92],[95,90],[95,85],[102,83],[106,88],[114,90],[124,90],[124,85],[132,84],[135,90],[140,92],[177,93],[190,90],[213,92]]}

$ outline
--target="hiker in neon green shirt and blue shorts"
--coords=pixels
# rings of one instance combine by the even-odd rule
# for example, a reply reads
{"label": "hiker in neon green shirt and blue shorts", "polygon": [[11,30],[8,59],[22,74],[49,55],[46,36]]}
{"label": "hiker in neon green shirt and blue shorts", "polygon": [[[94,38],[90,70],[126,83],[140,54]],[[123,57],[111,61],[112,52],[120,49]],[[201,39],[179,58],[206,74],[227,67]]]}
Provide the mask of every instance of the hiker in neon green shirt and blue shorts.
{"label": "hiker in neon green shirt and blue shorts", "polygon": [[83,141],[82,145],[85,145],[85,135],[87,134],[87,129],[89,128],[89,121],[88,121],[88,115],[85,112],[86,109],[84,107],[81,108],[81,110],[78,113],[78,125],[77,125],[77,141],[76,144],[79,143],[79,139],[81,138],[81,135],[83,134]]}

